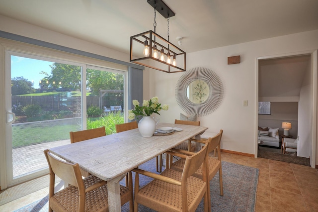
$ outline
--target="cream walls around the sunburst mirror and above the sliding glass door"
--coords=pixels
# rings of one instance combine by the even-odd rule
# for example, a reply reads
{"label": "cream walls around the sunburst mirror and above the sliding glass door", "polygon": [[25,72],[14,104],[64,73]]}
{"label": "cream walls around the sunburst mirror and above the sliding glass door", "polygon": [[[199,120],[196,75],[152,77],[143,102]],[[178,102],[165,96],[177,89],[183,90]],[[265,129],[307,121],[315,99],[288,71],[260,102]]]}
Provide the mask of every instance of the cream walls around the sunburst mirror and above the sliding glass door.
{"label": "cream walls around the sunburst mirror and above the sliding glass door", "polygon": [[[4,16],[0,16],[0,30],[129,61],[128,54]],[[207,116],[199,117],[201,125],[209,127],[208,131],[218,132],[220,128],[224,129],[222,149],[255,154],[258,89],[256,58],[318,49],[317,37],[318,30],[315,30],[187,54],[187,70],[195,67],[209,68],[218,74],[223,82],[224,100],[220,107]],[[227,65],[227,58],[235,55],[240,55],[241,63]],[[4,75],[3,66],[0,75]],[[146,68],[145,99],[158,96],[160,103],[170,105],[168,111],[161,112],[160,122],[173,122],[180,117],[179,113],[183,112],[174,95],[176,82],[181,75],[182,73],[167,74]],[[242,106],[243,100],[248,101],[248,106]],[[1,111],[4,111],[4,107],[0,107]],[[0,118],[3,122],[4,116],[1,115]]]}

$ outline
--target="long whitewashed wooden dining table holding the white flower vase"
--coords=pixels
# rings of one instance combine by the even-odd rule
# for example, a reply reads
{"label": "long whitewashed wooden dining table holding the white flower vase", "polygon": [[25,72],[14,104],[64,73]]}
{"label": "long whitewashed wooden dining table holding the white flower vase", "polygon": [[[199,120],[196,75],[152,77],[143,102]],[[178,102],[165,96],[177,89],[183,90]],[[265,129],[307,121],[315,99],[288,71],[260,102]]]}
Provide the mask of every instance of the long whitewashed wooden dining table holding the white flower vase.
{"label": "long whitewashed wooden dining table holding the white flower vase", "polygon": [[145,138],[138,129],[132,129],[54,147],[49,151],[66,161],[79,163],[81,169],[108,181],[109,211],[120,212],[119,182],[127,172],[192,137],[199,139],[208,129],[205,126],[173,123],[159,123],[157,128],[160,127],[178,127],[182,131]]}

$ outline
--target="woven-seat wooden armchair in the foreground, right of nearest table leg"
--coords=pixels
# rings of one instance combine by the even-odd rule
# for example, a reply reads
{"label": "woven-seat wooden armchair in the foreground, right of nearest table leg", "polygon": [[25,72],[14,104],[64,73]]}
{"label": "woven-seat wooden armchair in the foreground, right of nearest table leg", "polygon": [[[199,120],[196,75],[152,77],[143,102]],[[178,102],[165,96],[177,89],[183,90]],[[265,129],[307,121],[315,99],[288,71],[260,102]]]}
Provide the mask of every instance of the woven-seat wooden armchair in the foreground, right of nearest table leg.
{"label": "woven-seat wooden armchair in the foreground, right of nearest table leg", "polygon": [[[207,156],[207,145],[199,152],[191,156],[181,155],[185,158],[183,172],[173,169],[165,169],[160,175],[133,169],[135,177],[135,205],[134,211],[138,211],[138,204],[159,212],[194,212],[204,197],[204,211],[208,211],[207,176],[196,178],[193,173],[201,167]],[[206,173],[206,163],[203,170]],[[139,174],[154,178],[146,186],[139,189]]]}

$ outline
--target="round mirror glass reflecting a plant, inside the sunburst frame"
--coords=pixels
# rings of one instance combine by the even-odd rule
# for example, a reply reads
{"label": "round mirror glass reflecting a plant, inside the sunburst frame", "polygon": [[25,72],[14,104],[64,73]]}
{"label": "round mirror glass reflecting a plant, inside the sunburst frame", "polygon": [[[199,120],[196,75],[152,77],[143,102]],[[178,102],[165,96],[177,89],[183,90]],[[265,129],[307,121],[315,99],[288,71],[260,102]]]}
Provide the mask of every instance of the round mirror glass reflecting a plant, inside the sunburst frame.
{"label": "round mirror glass reflecting a plant, inside the sunburst frame", "polygon": [[210,89],[203,80],[195,80],[187,88],[187,98],[194,104],[204,103],[209,97]]}

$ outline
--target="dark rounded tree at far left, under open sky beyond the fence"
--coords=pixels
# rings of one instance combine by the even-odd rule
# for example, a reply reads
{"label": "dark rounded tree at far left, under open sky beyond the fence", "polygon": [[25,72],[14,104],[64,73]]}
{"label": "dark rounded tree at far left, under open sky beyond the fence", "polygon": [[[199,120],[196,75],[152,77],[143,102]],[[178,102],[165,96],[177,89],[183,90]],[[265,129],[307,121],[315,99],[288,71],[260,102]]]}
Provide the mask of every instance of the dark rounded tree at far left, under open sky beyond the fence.
{"label": "dark rounded tree at far left, under open sky beyond the fence", "polygon": [[12,96],[32,94],[35,92],[33,85],[34,83],[23,77],[14,77],[11,79],[11,94]]}

